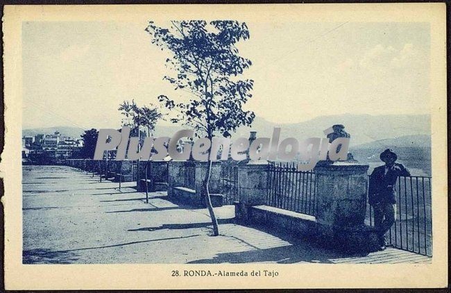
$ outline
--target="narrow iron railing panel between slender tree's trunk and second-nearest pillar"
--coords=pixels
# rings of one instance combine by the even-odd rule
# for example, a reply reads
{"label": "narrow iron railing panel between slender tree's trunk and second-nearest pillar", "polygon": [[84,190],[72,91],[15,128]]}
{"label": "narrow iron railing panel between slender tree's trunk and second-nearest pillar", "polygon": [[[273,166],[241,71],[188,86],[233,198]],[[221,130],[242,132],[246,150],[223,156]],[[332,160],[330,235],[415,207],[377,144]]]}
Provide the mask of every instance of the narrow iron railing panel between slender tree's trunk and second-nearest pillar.
{"label": "narrow iron railing panel between slender tree's trunk and second-nearest pillar", "polygon": [[239,177],[238,166],[230,163],[221,165],[221,193],[223,203],[231,205],[234,201],[239,201]]}

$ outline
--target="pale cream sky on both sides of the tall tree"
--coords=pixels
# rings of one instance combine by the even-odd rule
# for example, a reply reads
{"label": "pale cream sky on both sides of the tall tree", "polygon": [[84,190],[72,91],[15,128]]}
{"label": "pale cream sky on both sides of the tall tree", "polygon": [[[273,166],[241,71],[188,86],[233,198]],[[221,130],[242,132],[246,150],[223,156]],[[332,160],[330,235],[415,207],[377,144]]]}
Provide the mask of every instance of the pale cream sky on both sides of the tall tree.
{"label": "pale cream sky on both sides of the tall tree", "polygon": [[[288,19],[287,19],[288,20]],[[253,65],[246,104],[277,124],[318,116],[427,114],[429,24],[246,22],[238,45]],[[119,103],[158,104],[166,52],[146,22],[24,22],[23,128],[119,128]],[[162,26],[167,24],[161,24]],[[166,122],[163,122],[166,123]]]}

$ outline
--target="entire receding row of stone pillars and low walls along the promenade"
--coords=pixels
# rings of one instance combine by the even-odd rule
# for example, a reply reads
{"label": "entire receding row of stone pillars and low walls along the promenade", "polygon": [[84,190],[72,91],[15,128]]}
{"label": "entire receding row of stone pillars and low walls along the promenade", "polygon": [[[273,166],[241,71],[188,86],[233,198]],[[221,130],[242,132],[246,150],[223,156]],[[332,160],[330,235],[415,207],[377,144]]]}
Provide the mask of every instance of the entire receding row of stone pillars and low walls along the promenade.
{"label": "entire receding row of stone pillars and low walls along the promenade", "polygon": [[[203,181],[207,162],[151,161],[139,164],[134,178],[138,181],[139,191],[146,189],[147,164],[148,191],[167,190],[169,199],[183,199],[196,206],[205,206]],[[214,206],[223,204],[221,164],[223,162],[212,163],[209,190]],[[107,168],[105,160],[67,160],[67,165],[98,174]],[[235,214],[238,221],[273,225],[278,230],[310,237],[341,251],[377,248],[374,229],[364,224],[368,165],[354,162],[318,164],[314,169],[317,186],[314,216],[265,206],[269,188],[267,162],[241,162],[237,166],[239,201],[235,203]],[[114,178],[121,173],[122,181],[131,181],[133,177],[131,161],[110,160],[107,169],[115,173]]]}

